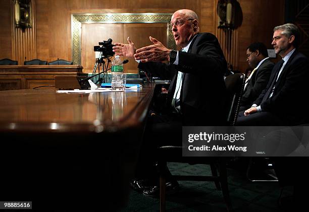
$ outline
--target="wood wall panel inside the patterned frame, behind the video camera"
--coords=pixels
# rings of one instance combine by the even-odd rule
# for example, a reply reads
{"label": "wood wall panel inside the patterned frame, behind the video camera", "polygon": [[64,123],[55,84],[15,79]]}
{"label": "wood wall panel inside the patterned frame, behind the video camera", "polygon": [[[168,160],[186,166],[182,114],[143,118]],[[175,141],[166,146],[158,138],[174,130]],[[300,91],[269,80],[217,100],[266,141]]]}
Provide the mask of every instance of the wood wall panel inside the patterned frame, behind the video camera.
{"label": "wood wall panel inside the patterned frame, behind the video camera", "polygon": [[[149,36],[153,36],[162,43],[167,43],[167,24],[165,23],[131,23],[131,24],[82,24],[81,30],[81,65],[83,72],[91,73],[95,64],[95,52],[93,46],[98,42],[113,39],[114,42],[127,43],[127,37],[134,41],[136,48],[150,45]],[[142,35],[142,36],[141,36]],[[126,58],[124,58],[126,59]],[[137,66],[134,60],[129,59],[129,63],[124,66],[124,72],[137,73]],[[111,59],[113,60],[113,58]],[[105,60],[107,65],[107,60]],[[111,64],[108,68],[111,68]],[[98,70],[97,70],[98,71]],[[101,71],[101,68],[100,68]]]}

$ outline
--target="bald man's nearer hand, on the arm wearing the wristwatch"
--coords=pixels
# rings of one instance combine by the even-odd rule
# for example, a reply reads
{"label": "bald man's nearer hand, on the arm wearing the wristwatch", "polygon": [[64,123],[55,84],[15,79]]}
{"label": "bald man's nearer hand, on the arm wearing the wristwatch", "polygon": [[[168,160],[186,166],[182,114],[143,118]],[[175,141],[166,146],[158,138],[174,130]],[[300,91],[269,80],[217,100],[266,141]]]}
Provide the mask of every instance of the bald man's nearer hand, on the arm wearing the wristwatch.
{"label": "bald man's nearer hand, on the arm wearing the wristwatch", "polygon": [[149,37],[153,45],[148,45],[136,50],[134,55],[135,60],[141,60],[141,62],[162,62],[170,60],[170,49],[165,47],[156,38]]}

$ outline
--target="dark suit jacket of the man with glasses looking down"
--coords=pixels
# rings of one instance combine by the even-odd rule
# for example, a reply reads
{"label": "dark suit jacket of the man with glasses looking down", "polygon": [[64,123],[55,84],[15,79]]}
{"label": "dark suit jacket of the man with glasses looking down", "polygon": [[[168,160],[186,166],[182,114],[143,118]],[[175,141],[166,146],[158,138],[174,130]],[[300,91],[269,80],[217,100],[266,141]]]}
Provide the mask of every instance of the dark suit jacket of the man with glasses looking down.
{"label": "dark suit jacket of the man with glasses looking down", "polygon": [[241,106],[246,107],[246,109],[251,107],[253,101],[266,88],[274,65],[267,59],[259,66],[258,70],[255,70],[242,94]]}

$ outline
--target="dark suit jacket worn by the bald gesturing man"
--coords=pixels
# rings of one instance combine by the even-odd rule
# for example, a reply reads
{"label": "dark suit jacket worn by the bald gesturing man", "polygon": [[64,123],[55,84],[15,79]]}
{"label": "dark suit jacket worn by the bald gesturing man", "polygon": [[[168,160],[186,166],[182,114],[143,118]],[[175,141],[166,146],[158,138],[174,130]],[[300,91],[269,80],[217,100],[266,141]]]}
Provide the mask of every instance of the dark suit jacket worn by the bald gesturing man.
{"label": "dark suit jacket worn by the bald gesturing man", "polygon": [[226,87],[223,75],[227,63],[217,38],[211,33],[199,33],[188,52],[179,51],[178,54],[178,65],[149,62],[139,63],[138,68],[171,79],[166,102],[170,111],[177,73],[184,73],[180,95],[184,125],[224,125]]}

